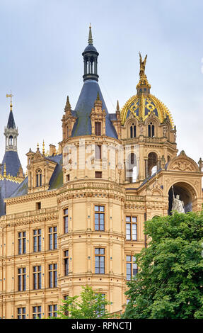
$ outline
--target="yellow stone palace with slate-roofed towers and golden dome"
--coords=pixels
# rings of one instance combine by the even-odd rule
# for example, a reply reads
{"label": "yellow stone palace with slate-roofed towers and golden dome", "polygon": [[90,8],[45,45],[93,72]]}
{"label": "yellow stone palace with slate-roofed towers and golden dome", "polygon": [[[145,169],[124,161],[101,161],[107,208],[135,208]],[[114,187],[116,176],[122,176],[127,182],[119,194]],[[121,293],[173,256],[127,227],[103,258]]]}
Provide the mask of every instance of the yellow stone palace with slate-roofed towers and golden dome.
{"label": "yellow stone palace with slate-roofed towers and golden dome", "polygon": [[1,318],[54,317],[86,285],[106,296],[110,312],[121,311],[139,269],[134,254],[147,247],[144,222],[171,214],[175,196],[185,213],[202,210],[202,159],[178,153],[146,57],[134,96],[108,113],[98,55],[90,27],[81,94],[74,109],[66,99],[59,146],[30,149],[26,175],[11,102],[0,169]]}

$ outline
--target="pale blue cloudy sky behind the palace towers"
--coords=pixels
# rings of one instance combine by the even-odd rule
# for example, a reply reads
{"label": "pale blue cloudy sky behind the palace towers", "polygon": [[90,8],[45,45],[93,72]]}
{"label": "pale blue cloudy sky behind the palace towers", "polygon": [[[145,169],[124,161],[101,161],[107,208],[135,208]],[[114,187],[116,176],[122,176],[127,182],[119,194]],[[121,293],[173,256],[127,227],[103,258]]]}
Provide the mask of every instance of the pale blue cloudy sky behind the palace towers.
{"label": "pale blue cloudy sky behind the palace towers", "polygon": [[12,90],[18,155],[62,140],[69,95],[76,106],[83,85],[83,58],[91,22],[99,84],[109,113],[134,94],[139,51],[148,55],[151,94],[168,106],[179,152],[198,162],[203,120],[203,1],[0,0],[0,159]]}

